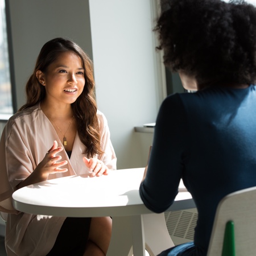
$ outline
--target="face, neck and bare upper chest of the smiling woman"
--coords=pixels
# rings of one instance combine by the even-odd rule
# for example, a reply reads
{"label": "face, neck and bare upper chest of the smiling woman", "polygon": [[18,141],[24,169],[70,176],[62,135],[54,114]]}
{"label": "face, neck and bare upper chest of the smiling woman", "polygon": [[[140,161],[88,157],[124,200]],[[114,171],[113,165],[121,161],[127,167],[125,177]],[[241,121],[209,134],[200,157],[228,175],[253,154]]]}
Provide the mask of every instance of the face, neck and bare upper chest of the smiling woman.
{"label": "face, neck and bare upper chest of the smiling woman", "polygon": [[63,52],[45,72],[37,71],[36,77],[46,89],[46,97],[40,102],[40,107],[55,127],[60,141],[63,138],[65,150],[71,151],[76,137],[76,123],[73,122],[73,113],[65,113],[69,112],[71,104],[84,90],[81,58],[73,52]]}

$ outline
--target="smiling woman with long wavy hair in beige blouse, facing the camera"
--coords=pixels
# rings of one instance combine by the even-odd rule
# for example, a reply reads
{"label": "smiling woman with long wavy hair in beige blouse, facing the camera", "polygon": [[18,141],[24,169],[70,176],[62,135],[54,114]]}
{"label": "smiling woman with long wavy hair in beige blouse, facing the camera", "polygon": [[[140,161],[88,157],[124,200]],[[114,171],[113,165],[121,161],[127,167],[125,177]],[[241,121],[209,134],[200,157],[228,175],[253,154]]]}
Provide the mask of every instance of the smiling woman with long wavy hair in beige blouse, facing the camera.
{"label": "smiling woman with long wavy hair in beige blouse, facing the camera", "polygon": [[110,217],[40,216],[11,205],[12,193],[24,186],[116,169],[108,123],[94,100],[92,61],[71,40],[50,40],[39,53],[26,94],[27,103],[7,122],[0,144],[7,255],[106,255]]}

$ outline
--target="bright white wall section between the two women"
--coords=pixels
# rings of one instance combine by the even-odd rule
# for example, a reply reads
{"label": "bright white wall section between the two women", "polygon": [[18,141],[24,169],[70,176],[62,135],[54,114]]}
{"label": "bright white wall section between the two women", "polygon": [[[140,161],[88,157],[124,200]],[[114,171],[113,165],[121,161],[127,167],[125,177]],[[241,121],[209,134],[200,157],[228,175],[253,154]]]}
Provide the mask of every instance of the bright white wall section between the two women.
{"label": "bright white wall section between the two women", "polygon": [[97,104],[109,122],[118,168],[146,164],[142,141],[151,144],[152,135],[135,133],[134,127],[155,122],[163,99],[153,2],[89,0]]}

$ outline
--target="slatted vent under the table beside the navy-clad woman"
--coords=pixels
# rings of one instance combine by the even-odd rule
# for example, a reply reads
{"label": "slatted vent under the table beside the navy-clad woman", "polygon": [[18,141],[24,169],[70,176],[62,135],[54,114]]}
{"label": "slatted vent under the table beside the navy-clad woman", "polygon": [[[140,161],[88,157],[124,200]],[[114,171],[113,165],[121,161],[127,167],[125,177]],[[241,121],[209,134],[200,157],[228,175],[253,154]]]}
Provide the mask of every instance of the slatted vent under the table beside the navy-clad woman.
{"label": "slatted vent under the table beside the navy-clad woman", "polygon": [[176,210],[166,212],[164,215],[168,232],[175,245],[193,240],[197,221],[196,209]]}

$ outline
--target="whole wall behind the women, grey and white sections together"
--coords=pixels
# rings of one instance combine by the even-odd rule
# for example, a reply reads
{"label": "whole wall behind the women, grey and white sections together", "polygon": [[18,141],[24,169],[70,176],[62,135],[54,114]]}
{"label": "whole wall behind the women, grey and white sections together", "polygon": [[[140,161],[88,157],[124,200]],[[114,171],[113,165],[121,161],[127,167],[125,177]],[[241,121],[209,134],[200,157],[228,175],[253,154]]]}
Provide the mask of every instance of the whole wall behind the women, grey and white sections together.
{"label": "whole wall behind the women, grey and white sections together", "polygon": [[[75,40],[93,59],[98,109],[108,118],[118,168],[143,167],[164,92],[152,32],[155,0],[9,0],[18,108],[48,40]],[[145,146],[146,145],[146,146]]]}

